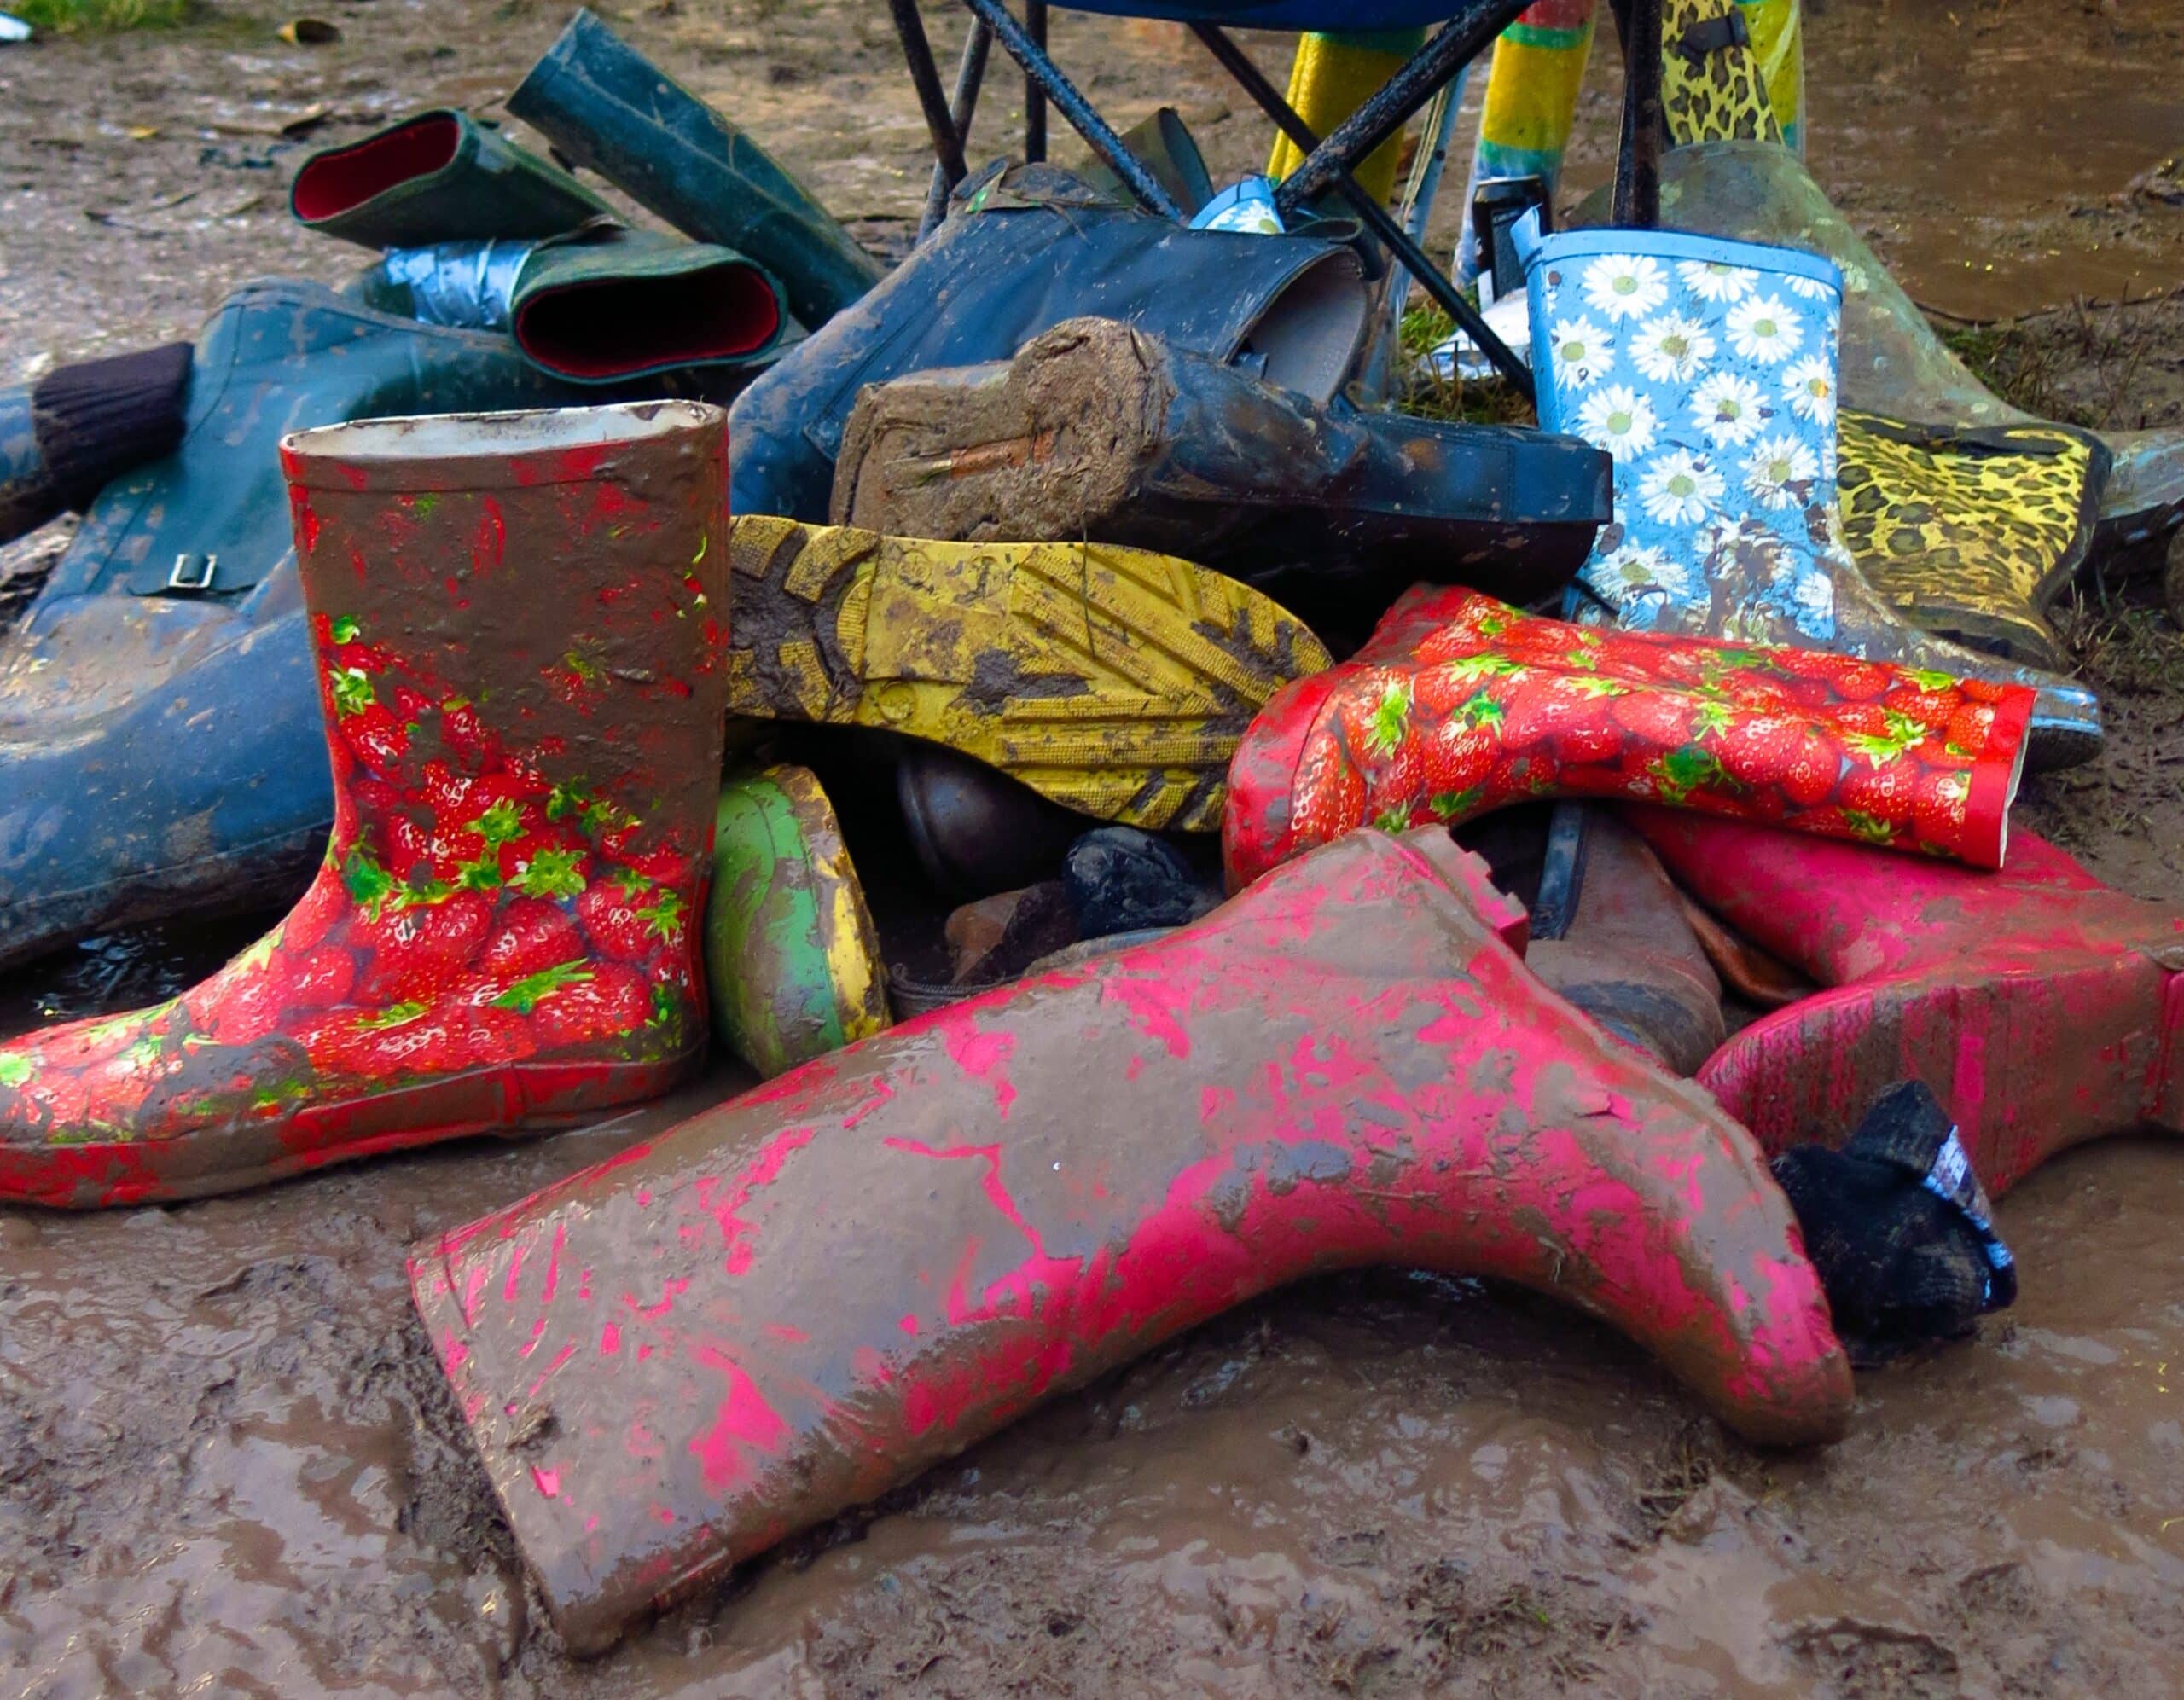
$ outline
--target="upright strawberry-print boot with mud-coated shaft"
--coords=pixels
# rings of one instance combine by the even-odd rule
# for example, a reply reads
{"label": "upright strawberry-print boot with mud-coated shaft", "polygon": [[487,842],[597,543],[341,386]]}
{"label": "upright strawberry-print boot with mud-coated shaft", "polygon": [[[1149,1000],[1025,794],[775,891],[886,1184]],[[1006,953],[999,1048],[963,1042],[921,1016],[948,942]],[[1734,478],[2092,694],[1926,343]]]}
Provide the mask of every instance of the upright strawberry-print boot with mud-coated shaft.
{"label": "upright strawberry-print boot with mud-coated shaft", "polygon": [[376,419],[282,465],[334,764],[288,917],[0,1045],[0,1198],[194,1198],[673,1087],[727,690],[727,432],[686,402]]}

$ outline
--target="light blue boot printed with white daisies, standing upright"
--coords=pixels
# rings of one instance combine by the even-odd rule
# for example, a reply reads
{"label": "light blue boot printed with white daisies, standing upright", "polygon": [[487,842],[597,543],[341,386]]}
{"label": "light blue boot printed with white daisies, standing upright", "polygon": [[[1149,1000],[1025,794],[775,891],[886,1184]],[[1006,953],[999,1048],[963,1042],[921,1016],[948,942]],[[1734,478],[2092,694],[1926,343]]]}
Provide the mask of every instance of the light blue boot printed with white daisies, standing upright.
{"label": "light blue boot printed with white daisies, standing upright", "polygon": [[1907,624],[1835,506],[1843,279],[1795,249],[1647,229],[1518,227],[1540,426],[1614,456],[1614,522],[1579,620],[1791,644],[2031,685],[2033,764],[2101,744],[2090,690]]}

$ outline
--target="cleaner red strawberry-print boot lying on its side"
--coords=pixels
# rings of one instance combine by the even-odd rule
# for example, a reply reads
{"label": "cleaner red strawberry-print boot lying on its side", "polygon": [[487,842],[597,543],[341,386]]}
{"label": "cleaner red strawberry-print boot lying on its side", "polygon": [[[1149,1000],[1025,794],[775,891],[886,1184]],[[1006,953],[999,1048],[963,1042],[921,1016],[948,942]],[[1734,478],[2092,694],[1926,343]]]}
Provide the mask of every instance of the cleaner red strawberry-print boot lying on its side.
{"label": "cleaner red strawberry-print boot lying on its side", "polygon": [[1230,764],[1230,890],[1361,825],[1673,803],[1992,869],[2033,692],[1830,650],[1577,626],[1420,587],[1284,685]]}

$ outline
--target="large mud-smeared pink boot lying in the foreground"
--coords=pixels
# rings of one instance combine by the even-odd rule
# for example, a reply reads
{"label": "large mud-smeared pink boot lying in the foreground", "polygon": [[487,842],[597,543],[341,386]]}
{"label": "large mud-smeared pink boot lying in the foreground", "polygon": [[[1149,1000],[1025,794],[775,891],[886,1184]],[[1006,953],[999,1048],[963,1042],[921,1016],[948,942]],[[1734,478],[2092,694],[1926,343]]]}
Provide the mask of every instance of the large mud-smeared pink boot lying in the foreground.
{"label": "large mud-smeared pink boot lying in the foreground", "polygon": [[1533,978],[1446,834],[858,1041],[422,1246],[411,1285],[577,1650],[1254,1294],[1516,1281],[1721,1421],[1850,1370],[1752,1137]]}

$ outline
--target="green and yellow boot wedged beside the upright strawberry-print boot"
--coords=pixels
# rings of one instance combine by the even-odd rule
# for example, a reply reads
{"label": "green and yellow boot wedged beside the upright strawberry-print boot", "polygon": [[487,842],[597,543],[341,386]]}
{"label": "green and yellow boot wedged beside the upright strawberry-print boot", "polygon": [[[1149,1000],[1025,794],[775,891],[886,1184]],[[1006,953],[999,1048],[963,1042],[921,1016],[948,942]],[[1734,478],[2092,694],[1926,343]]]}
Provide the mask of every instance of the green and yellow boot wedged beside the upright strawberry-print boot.
{"label": "green and yellow boot wedged beside the upright strawberry-print boot", "polygon": [[764,1080],[889,1026],[880,936],[810,768],[721,792],[705,984],[714,1037]]}

